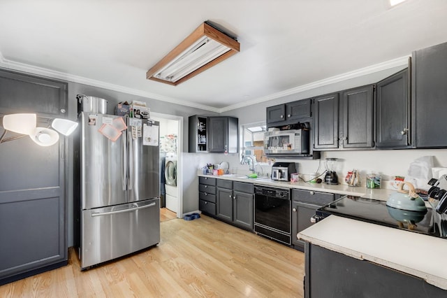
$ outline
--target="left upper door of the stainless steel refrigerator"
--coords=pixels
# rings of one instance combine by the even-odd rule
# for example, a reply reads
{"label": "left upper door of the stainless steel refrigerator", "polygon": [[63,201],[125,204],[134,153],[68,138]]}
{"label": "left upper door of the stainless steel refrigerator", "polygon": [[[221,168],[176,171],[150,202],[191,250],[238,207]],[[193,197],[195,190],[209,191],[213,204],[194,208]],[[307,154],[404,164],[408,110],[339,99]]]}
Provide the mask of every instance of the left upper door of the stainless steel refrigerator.
{"label": "left upper door of the stainless steel refrigerator", "polygon": [[80,113],[82,209],[126,203],[126,131],[111,141],[98,129],[115,115]]}

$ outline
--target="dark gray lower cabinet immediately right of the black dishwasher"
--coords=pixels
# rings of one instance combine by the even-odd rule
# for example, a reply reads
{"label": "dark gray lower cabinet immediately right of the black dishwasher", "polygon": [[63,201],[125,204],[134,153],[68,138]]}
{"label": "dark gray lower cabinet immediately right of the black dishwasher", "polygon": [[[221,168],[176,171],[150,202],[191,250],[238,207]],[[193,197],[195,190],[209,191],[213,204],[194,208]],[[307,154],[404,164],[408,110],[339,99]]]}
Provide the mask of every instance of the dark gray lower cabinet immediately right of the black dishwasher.
{"label": "dark gray lower cabinet immediately right of the black dishwasher", "polygon": [[328,192],[314,192],[310,190],[292,190],[292,244],[293,248],[304,251],[304,241],[298,240],[297,234],[310,227],[310,219],[316,209],[330,204],[339,195]]}

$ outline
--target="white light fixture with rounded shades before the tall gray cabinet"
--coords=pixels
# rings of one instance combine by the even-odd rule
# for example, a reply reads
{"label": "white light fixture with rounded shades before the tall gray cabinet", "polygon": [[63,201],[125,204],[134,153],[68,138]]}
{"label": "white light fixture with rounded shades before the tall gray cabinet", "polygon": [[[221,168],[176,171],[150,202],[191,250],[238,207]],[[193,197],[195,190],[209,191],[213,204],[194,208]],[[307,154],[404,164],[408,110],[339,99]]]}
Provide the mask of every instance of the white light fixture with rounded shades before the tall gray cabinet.
{"label": "white light fixture with rounded shades before the tall gray cabinet", "polygon": [[[57,131],[55,132],[48,127],[37,127],[36,120],[37,116],[34,113],[4,115],[4,132],[0,136],[0,143],[20,139],[23,136],[28,135],[31,140],[40,146],[52,146],[59,141],[59,134],[57,134],[57,132],[64,134],[64,136],[68,136],[75,131],[76,127],[78,127],[78,122],[55,118],[51,125],[52,128]],[[12,136],[8,139],[4,139],[4,136],[8,131],[23,134],[23,136]]]}

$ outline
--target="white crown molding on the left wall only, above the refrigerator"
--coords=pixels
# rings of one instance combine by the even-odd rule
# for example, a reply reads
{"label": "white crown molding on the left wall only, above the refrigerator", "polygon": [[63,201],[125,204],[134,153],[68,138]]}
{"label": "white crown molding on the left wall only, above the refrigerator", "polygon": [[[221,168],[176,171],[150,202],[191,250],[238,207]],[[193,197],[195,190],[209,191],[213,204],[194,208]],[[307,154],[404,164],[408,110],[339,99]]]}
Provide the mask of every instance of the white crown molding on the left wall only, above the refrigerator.
{"label": "white crown molding on the left wall only, above the refrigerator", "polygon": [[106,83],[103,82],[101,80],[93,80],[91,78],[84,78],[82,76],[75,76],[73,74],[70,73],[64,73],[61,71],[53,71],[51,69],[45,69],[43,67],[39,67],[39,66],[34,66],[34,65],[30,65],[30,64],[24,64],[21,62],[15,62],[12,60],[8,60],[5,59],[3,57],[3,55],[0,52],[0,67],[3,67],[5,69],[10,69],[13,71],[23,71],[23,72],[27,72],[27,73],[32,73],[35,75],[39,75],[39,76],[46,76],[48,78],[56,78],[59,80],[67,80],[73,83],[80,83],[80,84],[85,84],[85,85],[90,85],[90,86],[94,86],[94,87],[99,87],[99,88],[104,88],[104,89],[108,89],[108,90],[113,90],[113,91],[117,91],[117,92],[123,92],[123,93],[127,93],[127,94],[133,94],[133,95],[137,95],[139,97],[146,97],[149,99],[155,99],[155,100],[159,100],[159,101],[166,101],[169,102],[170,104],[179,104],[181,106],[188,106],[191,108],[199,108],[201,110],[205,110],[205,111],[211,111],[211,112],[215,112],[215,113],[221,113],[219,108],[214,108],[212,106],[205,106],[202,104],[195,104],[191,101],[182,101],[180,99],[175,99],[173,97],[165,97],[163,95],[160,94],[155,94],[155,93],[151,93],[151,92],[145,92],[142,90],[136,90],[133,88],[129,88],[129,87],[124,87],[121,85],[115,85],[115,84],[111,84],[111,83]]}

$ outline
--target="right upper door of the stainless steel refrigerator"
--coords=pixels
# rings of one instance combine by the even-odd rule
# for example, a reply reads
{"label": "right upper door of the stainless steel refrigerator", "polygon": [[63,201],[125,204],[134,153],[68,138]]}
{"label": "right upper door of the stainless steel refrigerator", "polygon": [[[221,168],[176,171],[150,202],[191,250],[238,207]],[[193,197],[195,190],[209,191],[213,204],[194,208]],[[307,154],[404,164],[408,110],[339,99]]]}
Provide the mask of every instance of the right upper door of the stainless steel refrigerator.
{"label": "right upper door of the stainless steel refrigerator", "polygon": [[[142,120],[142,129],[146,121]],[[154,129],[159,129],[155,122]],[[142,137],[132,139],[129,131],[129,192],[128,201],[142,201],[160,197],[159,146],[143,145]],[[159,143],[158,141],[156,142]]]}

